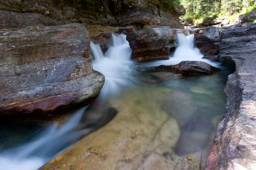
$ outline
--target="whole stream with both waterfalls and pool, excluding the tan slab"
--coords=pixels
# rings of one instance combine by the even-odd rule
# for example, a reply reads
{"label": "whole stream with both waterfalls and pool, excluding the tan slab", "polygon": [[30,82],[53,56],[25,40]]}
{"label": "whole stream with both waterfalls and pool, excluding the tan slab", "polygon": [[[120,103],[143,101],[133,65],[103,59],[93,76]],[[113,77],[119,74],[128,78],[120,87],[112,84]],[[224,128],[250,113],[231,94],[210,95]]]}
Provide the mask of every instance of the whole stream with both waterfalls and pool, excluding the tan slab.
{"label": "whole stream with both waterfalls and pool, excluding the tan slab", "polygon": [[[157,104],[169,116],[175,118],[181,135],[173,148],[177,155],[186,155],[204,149],[212,139],[226,104],[223,89],[227,75],[232,70],[202,59],[199,50],[193,47],[193,35],[178,33],[179,47],[169,60],[134,62],[130,60],[131,48],[125,35],[114,35],[113,46],[105,56],[98,45],[91,43],[94,56],[93,68],[105,75],[105,84],[100,96],[89,107],[75,111],[62,126],[55,123],[5,123],[0,131],[0,169],[33,170],[41,167],[90,131],[108,123],[117,113],[111,102],[127,99],[125,94],[142,95],[139,91],[149,90],[140,96],[148,104],[155,102],[158,93],[154,89],[169,89],[159,96]],[[161,64],[177,64],[182,60],[201,60],[221,68],[213,75],[173,76],[174,73],[152,70]],[[134,103],[136,105],[138,103]],[[218,122],[217,122],[218,123]]]}

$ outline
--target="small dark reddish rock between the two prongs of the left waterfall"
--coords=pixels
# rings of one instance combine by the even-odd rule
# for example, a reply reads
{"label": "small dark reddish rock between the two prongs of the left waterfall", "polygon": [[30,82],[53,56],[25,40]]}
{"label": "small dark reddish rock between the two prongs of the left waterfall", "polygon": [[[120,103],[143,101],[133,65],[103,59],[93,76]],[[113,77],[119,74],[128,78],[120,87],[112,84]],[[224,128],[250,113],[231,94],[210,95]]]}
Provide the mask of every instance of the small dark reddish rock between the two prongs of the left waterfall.
{"label": "small dark reddish rock between the two prongs of the left waterfall", "polygon": [[103,54],[105,54],[105,52],[108,51],[109,47],[113,44],[112,42],[113,40],[111,39],[111,36],[112,36],[112,32],[105,32],[99,35],[95,35],[91,37],[91,39],[93,39],[99,44]]}

